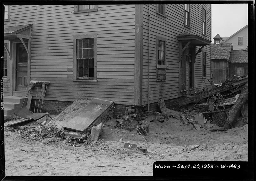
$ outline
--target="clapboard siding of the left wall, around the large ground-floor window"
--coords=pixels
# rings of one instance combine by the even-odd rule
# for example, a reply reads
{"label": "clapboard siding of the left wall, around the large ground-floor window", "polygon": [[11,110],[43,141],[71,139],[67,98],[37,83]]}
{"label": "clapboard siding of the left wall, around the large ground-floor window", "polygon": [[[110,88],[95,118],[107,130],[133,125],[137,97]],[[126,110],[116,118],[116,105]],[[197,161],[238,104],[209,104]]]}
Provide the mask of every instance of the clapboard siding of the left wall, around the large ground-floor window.
{"label": "clapboard siding of the left wall, around the large ground-floor window", "polygon": [[[97,97],[133,105],[134,4],[84,13],[74,13],[74,5],[11,6],[10,18],[5,26],[32,24],[30,76],[51,81],[46,100]],[[86,34],[97,34],[97,82],[73,81],[73,37]]]}

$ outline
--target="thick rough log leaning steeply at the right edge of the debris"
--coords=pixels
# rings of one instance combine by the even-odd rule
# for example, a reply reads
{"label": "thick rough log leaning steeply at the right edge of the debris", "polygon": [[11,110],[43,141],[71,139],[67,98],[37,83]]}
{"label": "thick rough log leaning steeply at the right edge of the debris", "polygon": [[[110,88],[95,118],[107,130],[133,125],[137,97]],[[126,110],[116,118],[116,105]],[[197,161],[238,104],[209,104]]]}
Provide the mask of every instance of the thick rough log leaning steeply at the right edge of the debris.
{"label": "thick rough log leaning steeply at the right edge of the debris", "polygon": [[224,125],[224,129],[232,128],[232,124],[235,121],[236,114],[241,109],[241,106],[245,104],[248,100],[248,82],[243,86],[243,90],[241,91],[239,97],[236,100],[236,103],[232,106],[231,111],[229,111],[227,122]]}

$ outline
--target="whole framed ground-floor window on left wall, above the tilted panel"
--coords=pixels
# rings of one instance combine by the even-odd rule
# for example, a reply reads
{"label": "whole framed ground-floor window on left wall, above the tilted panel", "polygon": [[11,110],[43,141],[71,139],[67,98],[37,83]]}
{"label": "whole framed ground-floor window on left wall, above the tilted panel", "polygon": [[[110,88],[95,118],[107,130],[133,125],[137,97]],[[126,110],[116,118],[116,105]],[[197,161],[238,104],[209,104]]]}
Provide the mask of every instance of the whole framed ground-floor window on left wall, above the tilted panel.
{"label": "whole framed ground-floor window on left wall, above the tilted panel", "polygon": [[96,36],[74,36],[76,80],[96,80]]}

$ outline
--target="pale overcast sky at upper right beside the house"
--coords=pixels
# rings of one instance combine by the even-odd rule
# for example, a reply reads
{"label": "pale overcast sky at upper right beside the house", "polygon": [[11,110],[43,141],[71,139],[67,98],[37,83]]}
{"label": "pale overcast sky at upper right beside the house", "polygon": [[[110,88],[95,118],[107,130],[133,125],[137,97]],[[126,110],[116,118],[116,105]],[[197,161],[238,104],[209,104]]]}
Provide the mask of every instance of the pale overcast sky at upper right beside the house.
{"label": "pale overcast sky at upper right beside the house", "polygon": [[229,37],[248,25],[247,9],[247,4],[212,4],[212,38]]}

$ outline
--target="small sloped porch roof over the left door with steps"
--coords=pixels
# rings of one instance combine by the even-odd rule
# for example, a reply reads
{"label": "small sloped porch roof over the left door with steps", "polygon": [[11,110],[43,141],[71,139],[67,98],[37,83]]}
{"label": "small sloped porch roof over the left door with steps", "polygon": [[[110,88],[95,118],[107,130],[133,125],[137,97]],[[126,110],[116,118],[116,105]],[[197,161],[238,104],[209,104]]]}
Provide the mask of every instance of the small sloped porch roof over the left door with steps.
{"label": "small sloped porch roof over the left door with steps", "polygon": [[31,38],[31,28],[32,25],[20,25],[4,28],[4,40],[12,40],[15,38]]}

